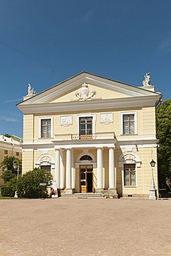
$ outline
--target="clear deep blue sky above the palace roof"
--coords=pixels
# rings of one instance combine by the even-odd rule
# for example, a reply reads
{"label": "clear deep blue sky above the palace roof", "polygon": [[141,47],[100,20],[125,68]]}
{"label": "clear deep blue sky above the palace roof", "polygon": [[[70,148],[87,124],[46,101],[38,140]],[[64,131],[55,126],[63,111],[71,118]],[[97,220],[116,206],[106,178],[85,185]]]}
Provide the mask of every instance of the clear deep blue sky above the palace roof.
{"label": "clear deep blue sky above the palace roof", "polygon": [[81,71],[171,98],[170,0],[0,0],[0,134],[22,138],[15,106]]}

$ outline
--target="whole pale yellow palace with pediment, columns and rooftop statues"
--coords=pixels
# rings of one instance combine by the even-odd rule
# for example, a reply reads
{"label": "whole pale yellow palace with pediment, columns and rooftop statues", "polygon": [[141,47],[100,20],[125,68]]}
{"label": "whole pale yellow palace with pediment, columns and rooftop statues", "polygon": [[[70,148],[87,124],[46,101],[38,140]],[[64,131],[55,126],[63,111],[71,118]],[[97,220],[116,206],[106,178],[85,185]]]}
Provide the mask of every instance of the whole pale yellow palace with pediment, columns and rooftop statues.
{"label": "whole pale yellow palace with pediment, columns and rooftop statues", "polygon": [[23,111],[23,173],[52,173],[63,194],[149,197],[158,190],[156,107],[150,84],[132,86],[81,72],[50,89],[28,94]]}

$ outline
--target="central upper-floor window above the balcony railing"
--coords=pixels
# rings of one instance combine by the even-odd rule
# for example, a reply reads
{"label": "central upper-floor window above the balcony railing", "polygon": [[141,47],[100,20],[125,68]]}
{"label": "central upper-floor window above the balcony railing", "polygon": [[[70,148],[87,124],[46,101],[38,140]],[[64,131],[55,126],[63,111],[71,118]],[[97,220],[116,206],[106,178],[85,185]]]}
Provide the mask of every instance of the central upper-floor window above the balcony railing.
{"label": "central upper-floor window above the balcony railing", "polygon": [[92,117],[79,118],[79,137],[92,138]]}

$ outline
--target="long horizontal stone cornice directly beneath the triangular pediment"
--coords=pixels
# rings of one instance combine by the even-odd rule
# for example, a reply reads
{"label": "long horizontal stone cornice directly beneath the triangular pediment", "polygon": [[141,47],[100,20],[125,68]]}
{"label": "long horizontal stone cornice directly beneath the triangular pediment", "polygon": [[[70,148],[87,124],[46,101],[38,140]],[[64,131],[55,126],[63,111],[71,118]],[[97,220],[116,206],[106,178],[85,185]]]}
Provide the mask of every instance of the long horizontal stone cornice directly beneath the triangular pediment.
{"label": "long horizontal stone cornice directly beneath the triangular pediment", "polygon": [[162,95],[140,96],[132,98],[117,98],[105,100],[87,100],[72,102],[56,102],[43,104],[19,104],[17,107],[23,113],[71,113],[73,111],[92,111],[101,109],[121,109],[131,107],[154,107],[159,104]]}

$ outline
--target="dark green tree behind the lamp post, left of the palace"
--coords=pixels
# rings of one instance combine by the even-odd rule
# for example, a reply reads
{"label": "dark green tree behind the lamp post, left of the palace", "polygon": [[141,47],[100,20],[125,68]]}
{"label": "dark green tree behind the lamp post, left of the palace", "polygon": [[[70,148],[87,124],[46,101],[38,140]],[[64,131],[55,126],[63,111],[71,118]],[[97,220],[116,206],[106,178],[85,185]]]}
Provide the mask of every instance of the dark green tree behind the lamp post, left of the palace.
{"label": "dark green tree behind the lamp post, left of the palace", "polygon": [[21,174],[22,161],[19,158],[15,158],[14,156],[6,156],[0,165],[0,169],[3,172],[1,178],[6,182],[10,181],[10,179],[17,175],[17,170],[15,170],[13,167],[14,161],[19,161],[19,174]]}

